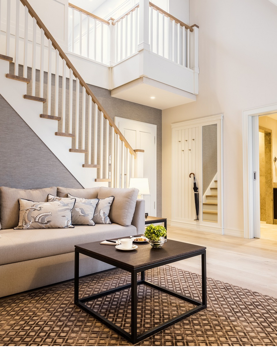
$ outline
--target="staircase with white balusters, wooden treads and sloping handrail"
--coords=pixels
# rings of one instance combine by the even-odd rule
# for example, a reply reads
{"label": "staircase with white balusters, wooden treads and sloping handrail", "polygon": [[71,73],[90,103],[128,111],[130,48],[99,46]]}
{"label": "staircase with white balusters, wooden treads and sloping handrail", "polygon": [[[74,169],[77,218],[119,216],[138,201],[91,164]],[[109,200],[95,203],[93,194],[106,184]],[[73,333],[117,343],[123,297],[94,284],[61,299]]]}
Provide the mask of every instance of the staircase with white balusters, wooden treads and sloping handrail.
{"label": "staircase with white balusters, wooden treads and sloping handrail", "polygon": [[27,0],[0,4],[0,94],[84,187],[128,186],[136,153],[90,87]]}

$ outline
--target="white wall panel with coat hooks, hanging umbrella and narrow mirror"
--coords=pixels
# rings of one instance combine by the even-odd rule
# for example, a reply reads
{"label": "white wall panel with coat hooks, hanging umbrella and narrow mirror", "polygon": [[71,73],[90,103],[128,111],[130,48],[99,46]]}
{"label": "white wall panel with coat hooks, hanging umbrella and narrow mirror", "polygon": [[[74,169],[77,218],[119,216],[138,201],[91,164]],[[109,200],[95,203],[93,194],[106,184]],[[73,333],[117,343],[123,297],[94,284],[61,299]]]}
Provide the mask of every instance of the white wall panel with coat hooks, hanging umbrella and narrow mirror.
{"label": "white wall panel with coat hooks, hanging umbrella and narrow mirror", "polygon": [[218,115],[171,125],[172,226],[223,233],[222,120]]}

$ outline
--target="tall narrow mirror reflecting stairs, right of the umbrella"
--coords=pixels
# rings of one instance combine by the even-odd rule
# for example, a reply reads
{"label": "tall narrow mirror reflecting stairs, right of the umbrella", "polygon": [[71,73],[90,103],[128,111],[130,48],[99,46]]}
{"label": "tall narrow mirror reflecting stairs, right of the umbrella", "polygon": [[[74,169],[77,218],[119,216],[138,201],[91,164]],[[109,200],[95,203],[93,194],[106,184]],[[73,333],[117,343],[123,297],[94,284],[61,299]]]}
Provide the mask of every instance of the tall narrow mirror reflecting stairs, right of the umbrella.
{"label": "tall narrow mirror reflecting stairs, right of the umbrella", "polygon": [[202,220],[218,223],[218,124],[202,126]]}

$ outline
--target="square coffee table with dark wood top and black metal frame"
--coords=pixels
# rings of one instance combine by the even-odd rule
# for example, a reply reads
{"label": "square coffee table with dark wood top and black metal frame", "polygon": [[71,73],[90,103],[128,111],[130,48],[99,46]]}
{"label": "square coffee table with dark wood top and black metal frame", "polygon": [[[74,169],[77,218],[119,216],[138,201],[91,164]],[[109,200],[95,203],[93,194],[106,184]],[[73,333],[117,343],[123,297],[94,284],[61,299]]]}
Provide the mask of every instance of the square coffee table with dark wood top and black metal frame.
{"label": "square coffee table with dark wood top and black metal frame", "polygon": [[[129,237],[125,237],[129,238]],[[84,254],[92,258],[101,260],[105,263],[111,264],[115,267],[121,268],[131,273],[131,284],[117,287],[99,294],[94,294],[89,297],[79,298],[79,254]],[[201,255],[202,265],[202,301],[195,300],[191,297],[186,297],[177,294],[164,287],[153,284],[145,280],[145,271],[153,269],[162,265],[173,263],[179,260]],[[137,274],[141,273],[140,280],[137,280]],[[146,284],[154,289],[171,296],[178,297],[182,300],[188,301],[194,305],[194,308],[173,317],[172,319],[153,327],[152,329],[137,334],[137,286]],[[106,317],[88,307],[85,302],[104,297],[120,290],[131,288],[131,334],[115,325]],[[206,283],[206,247],[188,244],[176,240],[168,239],[162,248],[152,248],[150,244],[141,244],[136,250],[122,251],[117,250],[114,245],[100,244],[100,241],[75,245],[75,281],[74,281],[74,303],[88,312],[93,317],[110,327],[120,336],[133,344],[142,341],[149,336],[165,329],[166,327],[188,317],[207,307],[207,283]]]}

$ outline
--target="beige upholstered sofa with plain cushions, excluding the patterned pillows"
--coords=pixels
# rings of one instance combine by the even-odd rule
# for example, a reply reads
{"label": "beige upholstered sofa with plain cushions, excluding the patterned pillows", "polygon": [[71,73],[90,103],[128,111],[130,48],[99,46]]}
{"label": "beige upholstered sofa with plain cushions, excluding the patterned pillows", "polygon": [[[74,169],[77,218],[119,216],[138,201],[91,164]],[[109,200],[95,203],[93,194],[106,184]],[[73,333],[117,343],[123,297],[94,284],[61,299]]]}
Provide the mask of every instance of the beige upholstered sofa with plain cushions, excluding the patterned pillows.
{"label": "beige upholstered sofa with plain cushions, excluding the patterned pillows", "polygon": [[[38,192],[0,187],[0,222],[4,228],[0,230],[0,297],[72,279],[75,244],[143,234],[145,202],[137,200],[137,190],[132,190],[51,187]],[[15,223],[12,217],[18,215],[18,198],[47,201],[48,193],[65,197],[65,192],[84,198],[113,195],[109,217],[116,223],[70,229],[14,230],[10,227]],[[111,265],[80,256],[82,276],[110,268]]]}

